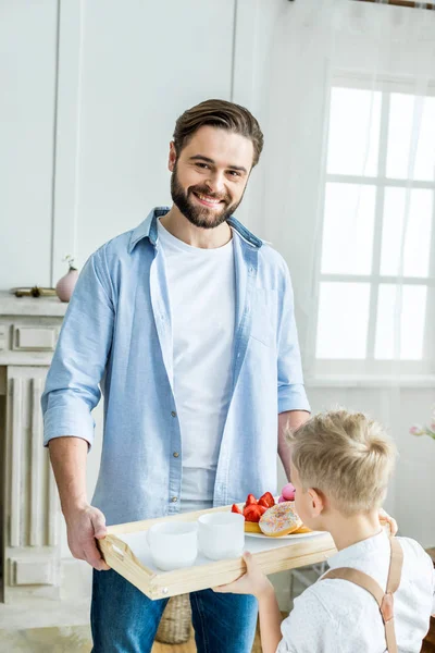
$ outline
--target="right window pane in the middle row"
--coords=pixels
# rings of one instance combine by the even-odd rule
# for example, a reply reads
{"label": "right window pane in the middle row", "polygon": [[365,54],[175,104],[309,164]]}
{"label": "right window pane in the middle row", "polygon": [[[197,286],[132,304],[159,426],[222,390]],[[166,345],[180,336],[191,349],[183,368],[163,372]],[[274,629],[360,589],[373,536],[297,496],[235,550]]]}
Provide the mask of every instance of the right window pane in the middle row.
{"label": "right window pane in the middle row", "polygon": [[427,276],[433,195],[420,188],[385,189],[381,274]]}

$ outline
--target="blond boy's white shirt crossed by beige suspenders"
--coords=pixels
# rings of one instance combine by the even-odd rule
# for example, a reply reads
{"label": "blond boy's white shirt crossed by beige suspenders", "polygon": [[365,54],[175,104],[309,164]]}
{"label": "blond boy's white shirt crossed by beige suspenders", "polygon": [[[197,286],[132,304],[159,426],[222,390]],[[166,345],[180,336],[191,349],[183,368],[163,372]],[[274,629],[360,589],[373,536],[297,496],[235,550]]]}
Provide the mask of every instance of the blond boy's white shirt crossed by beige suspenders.
{"label": "blond boy's white shirt crossed by beige suspenders", "polygon": [[[431,558],[414,540],[398,538],[403,568],[394,594],[399,653],[420,653],[435,609]],[[330,567],[352,567],[372,576],[385,590],[390,547],[384,532],[339,551]],[[374,597],[341,579],[319,580],[295,600],[282,624],[276,653],[385,653],[385,628]]]}

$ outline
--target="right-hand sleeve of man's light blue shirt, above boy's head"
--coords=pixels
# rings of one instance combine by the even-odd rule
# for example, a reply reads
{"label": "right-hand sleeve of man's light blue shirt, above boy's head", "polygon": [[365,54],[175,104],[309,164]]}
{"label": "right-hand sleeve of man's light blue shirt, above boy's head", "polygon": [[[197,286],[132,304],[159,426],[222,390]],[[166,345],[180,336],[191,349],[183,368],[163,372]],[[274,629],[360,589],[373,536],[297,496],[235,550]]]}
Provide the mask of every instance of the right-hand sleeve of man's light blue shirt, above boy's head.
{"label": "right-hand sleeve of man's light blue shirt, above boy's head", "polygon": [[290,274],[285,266],[278,332],[278,412],[308,410]]}

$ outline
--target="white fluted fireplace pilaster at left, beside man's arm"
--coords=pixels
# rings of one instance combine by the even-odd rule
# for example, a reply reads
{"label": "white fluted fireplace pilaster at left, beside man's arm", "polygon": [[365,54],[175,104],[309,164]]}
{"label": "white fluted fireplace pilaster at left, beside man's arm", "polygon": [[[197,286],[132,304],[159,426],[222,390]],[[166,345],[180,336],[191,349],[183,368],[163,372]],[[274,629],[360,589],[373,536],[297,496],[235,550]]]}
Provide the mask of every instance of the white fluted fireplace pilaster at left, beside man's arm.
{"label": "white fluted fireplace pilaster at left, beside man's arm", "polygon": [[59,586],[59,501],[42,445],[47,368],[9,367],[5,439],[4,595],[52,596]]}

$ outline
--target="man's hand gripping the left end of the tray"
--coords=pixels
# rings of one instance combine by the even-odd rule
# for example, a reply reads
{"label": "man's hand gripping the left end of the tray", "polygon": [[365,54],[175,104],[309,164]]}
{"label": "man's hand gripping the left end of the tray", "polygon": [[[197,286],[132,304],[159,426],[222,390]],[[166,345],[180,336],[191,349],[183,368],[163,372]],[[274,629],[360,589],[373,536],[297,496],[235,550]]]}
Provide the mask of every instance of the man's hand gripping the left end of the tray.
{"label": "man's hand gripping the left end of the tray", "polygon": [[110,569],[97,547],[96,539],[105,538],[105,518],[98,508],[85,505],[65,515],[67,543],[73,556],[86,560],[94,569]]}

